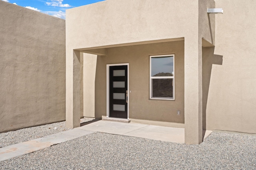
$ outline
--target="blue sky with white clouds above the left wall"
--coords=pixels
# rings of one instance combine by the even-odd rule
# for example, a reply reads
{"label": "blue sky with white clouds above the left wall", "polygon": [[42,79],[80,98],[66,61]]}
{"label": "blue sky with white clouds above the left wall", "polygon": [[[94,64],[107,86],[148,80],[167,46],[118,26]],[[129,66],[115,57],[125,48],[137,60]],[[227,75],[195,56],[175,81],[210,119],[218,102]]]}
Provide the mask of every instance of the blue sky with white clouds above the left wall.
{"label": "blue sky with white clouds above the left wall", "polygon": [[92,4],[103,0],[2,0],[58,18],[66,18],[66,9]]}

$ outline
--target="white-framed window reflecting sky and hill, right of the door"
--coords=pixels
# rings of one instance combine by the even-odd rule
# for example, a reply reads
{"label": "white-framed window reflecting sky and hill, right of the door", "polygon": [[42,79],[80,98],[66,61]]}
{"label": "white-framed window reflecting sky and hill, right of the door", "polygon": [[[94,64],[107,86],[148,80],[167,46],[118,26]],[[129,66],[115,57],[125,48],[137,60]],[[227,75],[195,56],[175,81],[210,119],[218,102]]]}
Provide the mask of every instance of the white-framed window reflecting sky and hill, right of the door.
{"label": "white-framed window reflecting sky and hill, right of the door", "polygon": [[150,56],[150,99],[174,100],[174,55]]}

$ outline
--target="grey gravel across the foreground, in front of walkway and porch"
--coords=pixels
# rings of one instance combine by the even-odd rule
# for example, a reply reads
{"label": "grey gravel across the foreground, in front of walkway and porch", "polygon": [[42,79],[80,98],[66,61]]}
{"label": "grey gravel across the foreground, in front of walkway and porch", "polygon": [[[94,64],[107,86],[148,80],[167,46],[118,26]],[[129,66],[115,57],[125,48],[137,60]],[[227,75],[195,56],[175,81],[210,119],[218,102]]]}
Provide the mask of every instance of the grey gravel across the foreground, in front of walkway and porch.
{"label": "grey gravel across the foreground, in front of walkway and porch", "polygon": [[4,170],[256,169],[256,136],[213,132],[200,145],[92,133],[0,162]]}

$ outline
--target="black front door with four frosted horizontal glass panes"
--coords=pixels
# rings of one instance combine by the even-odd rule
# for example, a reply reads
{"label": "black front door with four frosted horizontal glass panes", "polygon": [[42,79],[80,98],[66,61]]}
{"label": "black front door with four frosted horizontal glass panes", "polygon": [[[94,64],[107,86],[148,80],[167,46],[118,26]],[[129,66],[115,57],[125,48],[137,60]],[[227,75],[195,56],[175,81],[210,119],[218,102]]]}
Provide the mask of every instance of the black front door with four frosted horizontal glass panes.
{"label": "black front door with four frosted horizontal glass panes", "polygon": [[109,67],[109,117],[127,119],[127,65]]}

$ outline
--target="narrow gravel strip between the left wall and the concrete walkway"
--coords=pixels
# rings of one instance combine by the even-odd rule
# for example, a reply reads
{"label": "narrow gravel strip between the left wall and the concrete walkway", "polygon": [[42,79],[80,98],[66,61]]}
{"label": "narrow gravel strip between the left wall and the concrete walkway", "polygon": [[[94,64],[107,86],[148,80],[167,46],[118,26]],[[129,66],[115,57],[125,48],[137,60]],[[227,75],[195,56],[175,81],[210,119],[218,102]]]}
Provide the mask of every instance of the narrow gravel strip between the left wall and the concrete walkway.
{"label": "narrow gravel strip between the left wall and the concrete walkway", "polygon": [[[80,119],[81,123],[92,121],[94,118]],[[0,133],[0,148],[14,145],[16,143],[22,143],[37,139],[40,137],[52,135],[62,131],[67,131],[69,128],[65,126],[65,121],[52,123],[48,125],[41,125],[36,127],[19,129],[16,131],[10,131],[6,133]]]}

